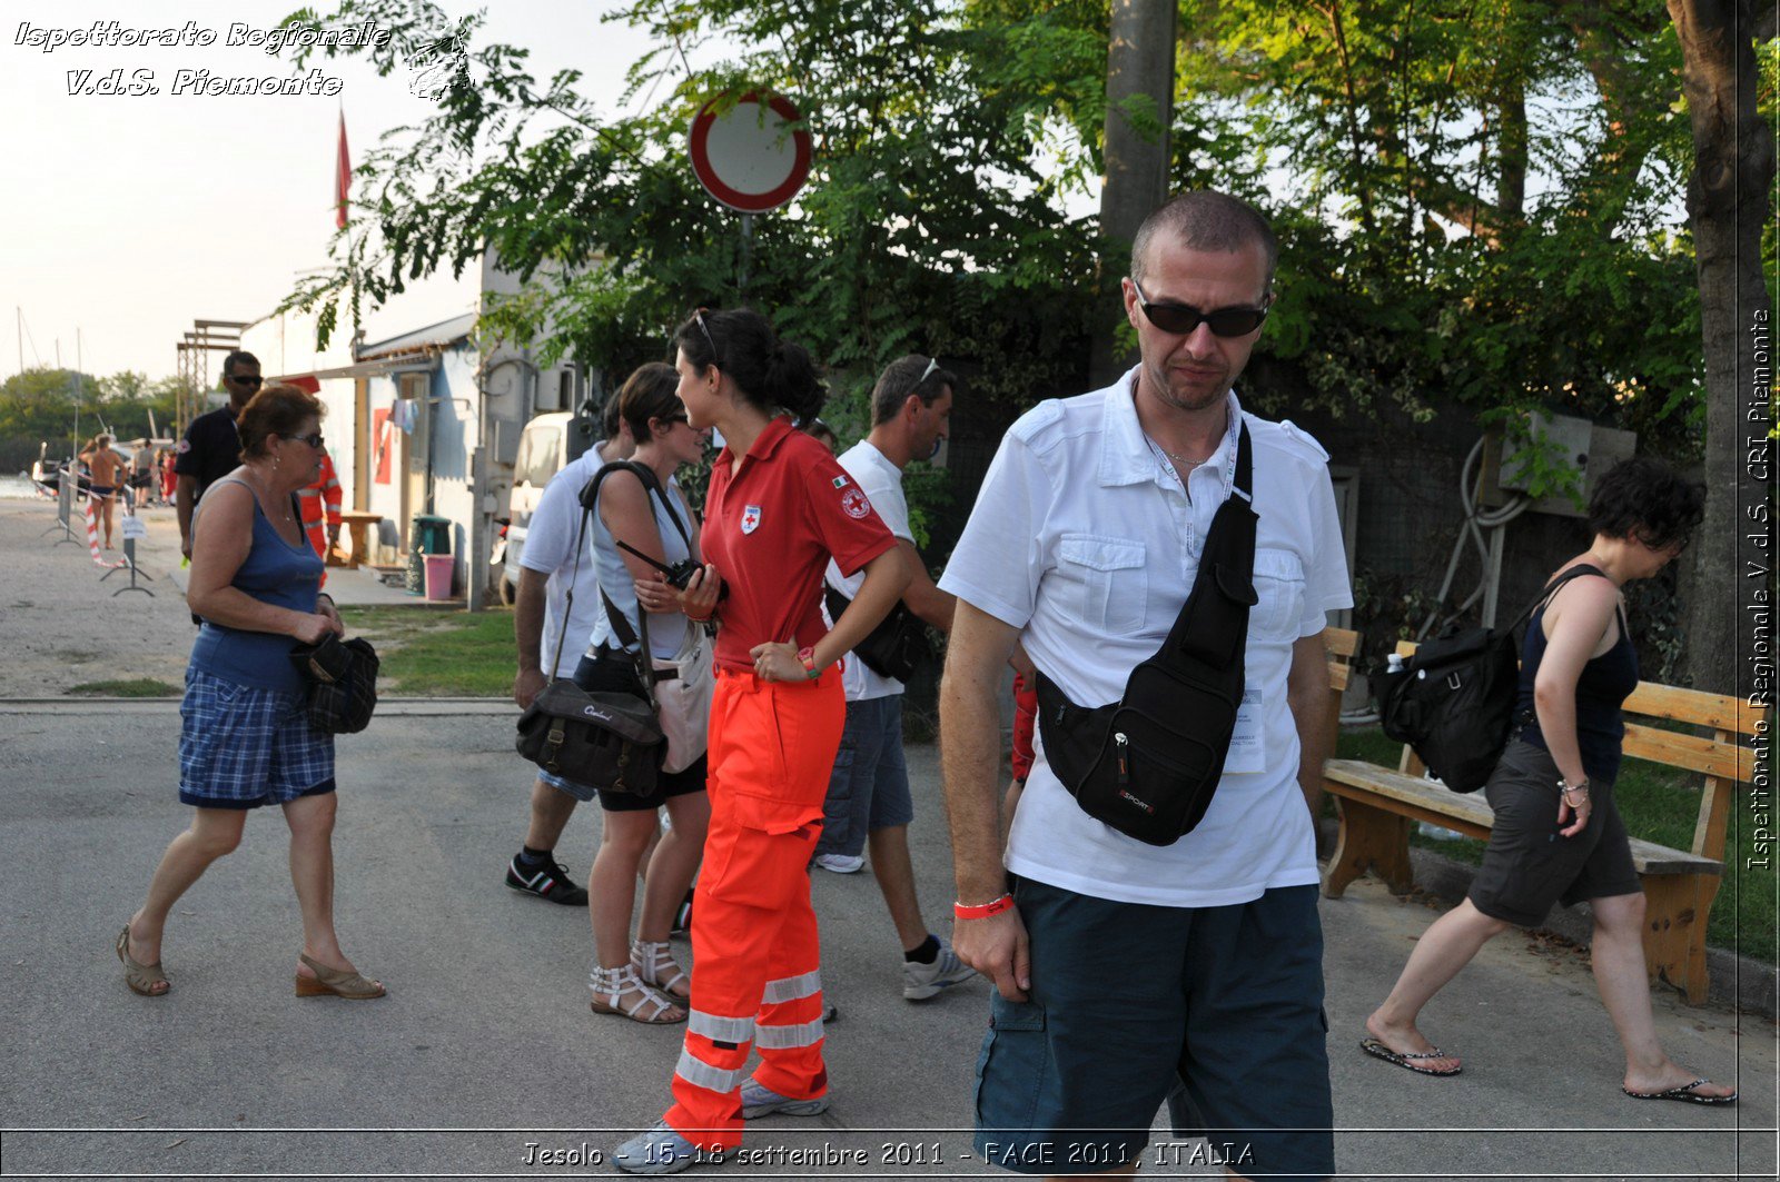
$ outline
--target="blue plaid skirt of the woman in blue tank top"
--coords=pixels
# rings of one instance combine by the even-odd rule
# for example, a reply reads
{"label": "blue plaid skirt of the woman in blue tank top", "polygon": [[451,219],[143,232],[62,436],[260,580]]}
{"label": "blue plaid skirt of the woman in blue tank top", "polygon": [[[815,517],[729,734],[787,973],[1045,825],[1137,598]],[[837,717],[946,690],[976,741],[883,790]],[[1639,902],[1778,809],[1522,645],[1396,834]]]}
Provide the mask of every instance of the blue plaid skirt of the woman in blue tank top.
{"label": "blue plaid skirt of the woman in blue tank top", "polygon": [[333,790],[333,735],[310,726],[303,694],[185,671],[180,803],[258,808]]}

